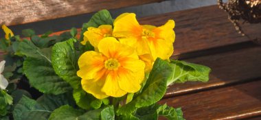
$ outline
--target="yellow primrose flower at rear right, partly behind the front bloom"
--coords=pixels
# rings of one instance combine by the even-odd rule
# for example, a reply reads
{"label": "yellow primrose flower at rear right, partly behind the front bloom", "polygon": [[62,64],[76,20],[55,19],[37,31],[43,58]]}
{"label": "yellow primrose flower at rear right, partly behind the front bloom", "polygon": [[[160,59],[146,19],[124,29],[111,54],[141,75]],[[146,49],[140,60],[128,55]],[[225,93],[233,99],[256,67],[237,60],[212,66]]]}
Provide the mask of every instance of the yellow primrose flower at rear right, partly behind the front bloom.
{"label": "yellow primrose flower at rear right, partly behind the front bloom", "polygon": [[[114,21],[113,36],[121,43],[136,47],[138,55],[150,53],[153,60],[167,60],[173,53],[175,34],[174,21],[169,20],[165,25],[139,25],[134,13],[124,13]],[[134,38],[134,39],[133,39]]]}

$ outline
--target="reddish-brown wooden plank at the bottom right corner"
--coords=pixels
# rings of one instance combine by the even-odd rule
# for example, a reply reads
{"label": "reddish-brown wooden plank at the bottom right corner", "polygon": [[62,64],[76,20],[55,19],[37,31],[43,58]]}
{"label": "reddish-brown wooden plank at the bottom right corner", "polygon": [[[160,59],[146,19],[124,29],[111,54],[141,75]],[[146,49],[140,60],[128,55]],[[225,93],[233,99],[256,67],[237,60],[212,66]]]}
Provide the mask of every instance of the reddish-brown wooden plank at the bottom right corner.
{"label": "reddish-brown wooden plank at the bottom right corner", "polygon": [[261,80],[163,99],[181,107],[185,119],[245,119],[261,115]]}

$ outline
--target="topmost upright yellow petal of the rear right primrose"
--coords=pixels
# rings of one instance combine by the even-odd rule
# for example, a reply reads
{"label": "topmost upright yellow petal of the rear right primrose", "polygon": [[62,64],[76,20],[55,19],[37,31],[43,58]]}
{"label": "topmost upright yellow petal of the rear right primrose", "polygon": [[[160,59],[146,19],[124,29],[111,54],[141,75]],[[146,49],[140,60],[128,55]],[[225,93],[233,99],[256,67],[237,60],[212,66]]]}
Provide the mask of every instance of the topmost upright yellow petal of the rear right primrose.
{"label": "topmost upright yellow petal of the rear right primrose", "polygon": [[142,27],[134,13],[121,14],[115,19],[113,25],[113,36],[117,38],[140,36],[142,32]]}

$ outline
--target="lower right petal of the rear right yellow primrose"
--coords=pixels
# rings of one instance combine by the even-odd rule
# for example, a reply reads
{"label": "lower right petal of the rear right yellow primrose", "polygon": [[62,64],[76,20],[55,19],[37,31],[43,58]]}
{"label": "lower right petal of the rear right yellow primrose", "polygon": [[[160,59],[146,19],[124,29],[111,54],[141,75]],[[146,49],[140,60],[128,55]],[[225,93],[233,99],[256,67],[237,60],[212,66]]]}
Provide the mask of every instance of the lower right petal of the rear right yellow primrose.
{"label": "lower right petal of the rear right yellow primrose", "polygon": [[161,58],[168,60],[173,53],[173,45],[171,41],[163,39],[149,40],[150,51],[154,60]]}

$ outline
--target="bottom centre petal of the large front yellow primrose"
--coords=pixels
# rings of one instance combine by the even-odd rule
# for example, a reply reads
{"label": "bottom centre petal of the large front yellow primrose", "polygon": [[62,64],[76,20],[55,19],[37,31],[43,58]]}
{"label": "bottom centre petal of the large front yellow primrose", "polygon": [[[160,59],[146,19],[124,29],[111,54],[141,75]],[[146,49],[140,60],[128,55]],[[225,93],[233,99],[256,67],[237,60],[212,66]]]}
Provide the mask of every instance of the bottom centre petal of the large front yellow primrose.
{"label": "bottom centre petal of the large front yellow primrose", "polygon": [[117,76],[116,71],[110,71],[108,73],[104,86],[102,87],[102,92],[106,93],[106,95],[112,97],[122,97],[126,95],[126,91],[122,91],[118,84],[119,77]]}

